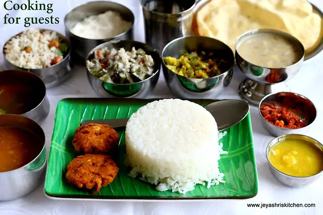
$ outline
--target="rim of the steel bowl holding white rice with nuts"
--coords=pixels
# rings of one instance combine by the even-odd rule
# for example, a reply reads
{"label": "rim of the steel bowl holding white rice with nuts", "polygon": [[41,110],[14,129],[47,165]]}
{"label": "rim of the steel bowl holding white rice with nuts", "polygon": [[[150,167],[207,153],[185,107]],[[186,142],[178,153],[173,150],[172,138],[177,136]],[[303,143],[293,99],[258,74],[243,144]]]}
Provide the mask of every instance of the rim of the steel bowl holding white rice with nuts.
{"label": "rim of the steel bowl holding white rice with nuts", "polygon": [[68,44],[68,46],[69,46],[69,49],[68,49],[68,52],[67,52],[67,54],[66,54],[66,56],[62,59],[62,61],[61,62],[59,62],[59,63],[56,63],[56,64],[54,64],[54,65],[50,65],[50,66],[48,66],[48,67],[42,67],[42,68],[24,68],[24,67],[20,67],[20,66],[18,66],[18,65],[15,65],[15,64],[13,64],[13,63],[11,63],[8,59],[7,59],[7,57],[6,57],[6,54],[5,54],[5,46],[7,45],[7,43],[10,41],[10,40],[12,40],[14,37],[17,37],[18,35],[20,35],[20,34],[22,34],[22,33],[24,33],[24,32],[26,32],[26,31],[28,31],[28,30],[30,30],[30,29],[27,29],[27,30],[25,30],[25,31],[21,31],[21,32],[19,32],[18,34],[16,34],[16,35],[14,35],[14,36],[12,36],[12,37],[10,37],[6,42],[5,42],[5,44],[4,44],[4,46],[3,46],[3,55],[4,55],[4,59],[8,62],[8,63],[10,63],[11,65],[13,65],[13,66],[16,66],[17,68],[19,68],[19,69],[17,69],[17,70],[28,70],[28,71],[35,71],[35,70],[38,70],[38,69],[40,69],[40,70],[42,70],[42,69],[47,69],[47,68],[52,68],[52,67],[55,67],[55,66],[57,66],[57,65],[60,65],[61,63],[63,63],[64,61],[66,61],[67,59],[69,59],[70,58],[70,54],[71,54],[71,43],[70,43],[70,41],[67,39],[67,37],[66,36],[64,36],[63,34],[61,34],[60,32],[58,32],[58,31],[54,31],[54,30],[51,30],[51,29],[46,29],[46,28],[35,28],[35,29],[38,29],[39,31],[51,31],[51,32],[55,32],[55,33],[57,33],[58,34],[58,36],[61,38],[61,39],[64,39],[64,43],[65,42],[67,42]]}

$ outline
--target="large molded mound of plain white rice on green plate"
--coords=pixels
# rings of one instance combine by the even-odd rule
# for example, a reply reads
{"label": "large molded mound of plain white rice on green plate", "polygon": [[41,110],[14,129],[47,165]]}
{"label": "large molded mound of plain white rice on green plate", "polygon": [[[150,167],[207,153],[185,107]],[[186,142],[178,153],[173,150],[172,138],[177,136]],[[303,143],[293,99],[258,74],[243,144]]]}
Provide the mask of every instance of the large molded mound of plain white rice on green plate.
{"label": "large molded mound of plain white rice on green plate", "polygon": [[[225,134],[220,133],[221,138]],[[219,146],[218,135],[216,120],[196,103],[151,102],[132,114],[126,126],[129,175],[156,185],[158,191],[182,194],[195,184],[209,188],[225,183],[218,162],[226,152]]]}

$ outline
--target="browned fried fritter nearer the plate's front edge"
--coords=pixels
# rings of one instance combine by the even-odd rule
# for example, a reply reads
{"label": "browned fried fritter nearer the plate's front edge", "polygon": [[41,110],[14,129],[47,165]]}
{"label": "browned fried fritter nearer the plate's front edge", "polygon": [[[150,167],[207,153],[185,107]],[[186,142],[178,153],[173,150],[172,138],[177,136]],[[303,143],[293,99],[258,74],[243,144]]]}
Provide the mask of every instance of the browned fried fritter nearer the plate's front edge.
{"label": "browned fried fritter nearer the plate's front edge", "polygon": [[81,155],[69,163],[66,179],[77,188],[95,189],[95,194],[113,182],[118,172],[117,164],[108,155]]}

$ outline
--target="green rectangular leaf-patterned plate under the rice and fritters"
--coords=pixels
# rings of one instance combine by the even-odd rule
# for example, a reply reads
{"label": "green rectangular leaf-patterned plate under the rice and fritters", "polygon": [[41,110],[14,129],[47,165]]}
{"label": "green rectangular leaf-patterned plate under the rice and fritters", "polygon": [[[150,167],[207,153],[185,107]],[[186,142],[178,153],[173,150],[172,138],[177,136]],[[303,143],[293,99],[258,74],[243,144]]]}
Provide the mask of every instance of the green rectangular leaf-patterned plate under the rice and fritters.
{"label": "green rectangular leaf-patterned plate under the rice and fritters", "polygon": [[[154,99],[156,100],[156,99]],[[101,199],[101,200],[175,200],[175,199],[245,199],[258,192],[258,176],[253,148],[250,113],[238,124],[228,128],[220,140],[223,150],[220,171],[225,174],[226,183],[218,186],[196,185],[185,195],[178,192],[156,191],[154,186],[139,179],[129,177],[124,165],[126,154],[125,131],[120,135],[120,168],[116,179],[97,194],[79,190],[67,183],[66,168],[78,154],[74,151],[72,140],[76,128],[83,120],[116,119],[130,117],[138,108],[154,101],[152,99],[64,99],[58,103],[55,125],[49,151],[44,191],[49,198],[63,199]],[[190,100],[202,106],[216,100]]]}

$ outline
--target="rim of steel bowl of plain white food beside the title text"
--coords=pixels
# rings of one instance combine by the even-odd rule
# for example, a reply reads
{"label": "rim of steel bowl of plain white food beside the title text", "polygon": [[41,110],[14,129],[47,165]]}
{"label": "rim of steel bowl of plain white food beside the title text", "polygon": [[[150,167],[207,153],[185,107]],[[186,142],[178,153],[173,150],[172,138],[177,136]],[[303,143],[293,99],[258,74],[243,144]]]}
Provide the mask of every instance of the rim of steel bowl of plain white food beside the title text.
{"label": "rim of steel bowl of plain white food beside the title text", "polygon": [[[71,32],[71,30],[66,26],[66,22],[67,22],[67,20],[68,20],[67,16],[68,16],[68,15],[70,15],[70,13],[71,13],[71,12],[76,11],[77,9],[79,9],[80,7],[85,6],[85,5],[88,5],[88,4],[92,4],[92,3],[114,4],[114,5],[119,5],[119,6],[124,7],[124,8],[125,8],[125,9],[127,9],[127,10],[128,10],[128,12],[130,12],[130,14],[132,15],[132,19],[131,19],[131,26],[130,26],[130,28],[129,28],[129,29],[127,29],[125,32],[122,32],[121,34],[118,34],[118,35],[116,35],[116,36],[113,36],[113,37],[110,37],[110,38],[102,38],[102,39],[90,39],[90,38],[80,37],[80,36],[78,36],[78,35],[73,34],[73,33]],[[113,39],[116,39],[116,38],[118,38],[118,37],[121,37],[121,36],[123,36],[123,35],[127,34],[127,33],[128,33],[128,32],[129,32],[133,27],[134,27],[134,24],[135,24],[135,16],[134,16],[134,14],[132,13],[132,11],[131,11],[128,7],[126,7],[126,6],[124,6],[124,5],[121,5],[121,4],[119,4],[119,3],[116,3],[116,2],[107,2],[107,1],[93,1],[93,2],[88,2],[88,3],[85,3],[85,4],[79,5],[79,6],[75,7],[75,8],[73,8],[71,11],[69,11],[69,12],[65,15],[65,17],[64,17],[64,27],[65,27],[65,29],[69,32],[69,34],[70,34],[70,35],[73,35],[74,37],[77,37],[77,38],[80,38],[80,39],[84,39],[84,40],[91,40],[91,41],[102,41],[102,40],[113,40]]]}

